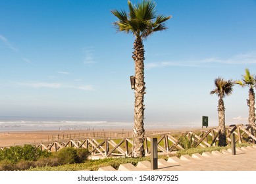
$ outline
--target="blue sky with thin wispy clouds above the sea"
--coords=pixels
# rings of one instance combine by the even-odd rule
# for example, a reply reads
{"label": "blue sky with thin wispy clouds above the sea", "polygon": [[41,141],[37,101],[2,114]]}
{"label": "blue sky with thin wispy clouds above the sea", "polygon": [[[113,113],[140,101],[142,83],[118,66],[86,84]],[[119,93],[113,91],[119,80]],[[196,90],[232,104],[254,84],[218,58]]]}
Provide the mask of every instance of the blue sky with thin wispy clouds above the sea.
{"label": "blue sky with thin wispy clouds above the sea", "polygon": [[[256,74],[256,1],[155,2],[172,18],[144,41],[145,123],[215,126],[215,78]],[[0,116],[132,122],[134,37],[116,33],[114,9],[127,1],[0,0]],[[224,99],[226,124],[246,123],[247,98],[235,86]]]}

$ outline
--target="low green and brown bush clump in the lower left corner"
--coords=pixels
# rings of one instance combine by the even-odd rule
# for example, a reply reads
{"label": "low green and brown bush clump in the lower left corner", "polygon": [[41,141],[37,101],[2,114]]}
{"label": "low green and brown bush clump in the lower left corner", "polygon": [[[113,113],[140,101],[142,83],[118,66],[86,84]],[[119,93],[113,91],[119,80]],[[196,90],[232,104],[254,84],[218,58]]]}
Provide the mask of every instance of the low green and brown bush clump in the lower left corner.
{"label": "low green and brown bush clump in the lower left corner", "polygon": [[15,146],[0,150],[0,170],[28,170],[36,167],[55,167],[63,164],[82,163],[88,159],[88,149],[66,147],[54,154],[32,145]]}

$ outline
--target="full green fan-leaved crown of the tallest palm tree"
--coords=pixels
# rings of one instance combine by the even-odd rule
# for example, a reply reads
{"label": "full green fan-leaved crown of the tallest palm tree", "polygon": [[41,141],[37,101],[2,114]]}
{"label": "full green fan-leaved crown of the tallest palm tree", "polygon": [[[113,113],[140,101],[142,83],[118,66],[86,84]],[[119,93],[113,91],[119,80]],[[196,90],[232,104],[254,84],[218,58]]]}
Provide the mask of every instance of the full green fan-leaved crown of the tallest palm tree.
{"label": "full green fan-leaved crown of the tallest palm tree", "polygon": [[146,38],[153,32],[166,30],[165,21],[171,16],[156,15],[155,3],[143,0],[138,5],[128,1],[129,11],[111,11],[119,20],[114,22],[118,32]]}

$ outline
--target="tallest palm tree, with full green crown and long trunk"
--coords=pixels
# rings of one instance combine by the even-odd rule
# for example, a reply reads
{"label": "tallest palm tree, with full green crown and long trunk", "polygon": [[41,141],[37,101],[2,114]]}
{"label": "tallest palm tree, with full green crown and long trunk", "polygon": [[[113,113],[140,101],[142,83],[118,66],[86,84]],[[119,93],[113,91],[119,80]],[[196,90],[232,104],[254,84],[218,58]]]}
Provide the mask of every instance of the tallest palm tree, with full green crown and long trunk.
{"label": "tallest palm tree, with full green crown and long trunk", "polygon": [[135,103],[134,103],[134,129],[133,129],[133,149],[132,156],[145,156],[143,148],[143,137],[145,134],[144,119],[144,45],[143,39],[146,39],[153,32],[166,30],[165,22],[171,16],[157,15],[153,1],[143,0],[137,5],[128,1],[129,11],[111,11],[118,20],[114,22],[118,32],[133,34],[134,52],[132,58],[135,62]]}

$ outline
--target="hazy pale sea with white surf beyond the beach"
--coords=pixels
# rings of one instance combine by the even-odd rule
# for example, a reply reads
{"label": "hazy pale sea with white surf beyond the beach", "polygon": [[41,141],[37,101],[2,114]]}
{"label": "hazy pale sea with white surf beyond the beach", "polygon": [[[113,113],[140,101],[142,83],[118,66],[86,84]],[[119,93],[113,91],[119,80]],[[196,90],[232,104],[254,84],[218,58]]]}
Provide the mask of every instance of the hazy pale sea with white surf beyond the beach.
{"label": "hazy pale sea with white surf beyond the beach", "polygon": [[[145,122],[145,129],[166,129],[200,127],[199,123],[161,123]],[[93,130],[131,129],[133,122],[107,120],[85,120],[83,118],[39,118],[0,116],[0,132],[6,131],[41,131],[41,130]]]}

